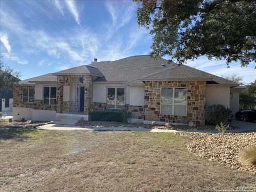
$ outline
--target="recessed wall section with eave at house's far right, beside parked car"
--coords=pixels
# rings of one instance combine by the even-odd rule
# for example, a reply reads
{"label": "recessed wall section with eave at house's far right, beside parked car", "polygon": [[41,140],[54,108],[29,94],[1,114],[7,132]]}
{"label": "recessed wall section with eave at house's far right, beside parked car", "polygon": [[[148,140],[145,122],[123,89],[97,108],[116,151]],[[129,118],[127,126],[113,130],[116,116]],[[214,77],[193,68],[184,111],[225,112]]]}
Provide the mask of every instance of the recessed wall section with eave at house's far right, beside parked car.
{"label": "recessed wall section with eave at house's far right, beside parked car", "polygon": [[230,110],[235,117],[235,113],[239,111],[239,94],[240,91],[245,90],[245,86],[232,87],[230,89]]}

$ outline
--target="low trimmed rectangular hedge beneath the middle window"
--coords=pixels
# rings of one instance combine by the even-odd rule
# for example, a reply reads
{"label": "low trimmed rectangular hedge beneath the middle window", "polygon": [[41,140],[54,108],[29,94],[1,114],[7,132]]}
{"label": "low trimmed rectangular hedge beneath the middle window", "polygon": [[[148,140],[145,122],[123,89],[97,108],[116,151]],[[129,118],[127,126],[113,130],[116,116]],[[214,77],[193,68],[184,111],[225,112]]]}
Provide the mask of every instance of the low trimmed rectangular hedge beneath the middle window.
{"label": "low trimmed rectangular hedge beneath the middle window", "polygon": [[129,111],[91,111],[90,121],[114,121],[128,123],[131,117]]}

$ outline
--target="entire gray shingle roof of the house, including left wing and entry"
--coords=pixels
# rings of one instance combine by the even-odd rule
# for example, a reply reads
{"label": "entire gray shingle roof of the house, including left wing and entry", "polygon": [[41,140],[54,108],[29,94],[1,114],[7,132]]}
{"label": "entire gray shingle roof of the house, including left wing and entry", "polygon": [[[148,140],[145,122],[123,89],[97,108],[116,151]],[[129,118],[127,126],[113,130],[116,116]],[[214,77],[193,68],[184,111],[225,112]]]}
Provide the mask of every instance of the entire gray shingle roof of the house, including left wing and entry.
{"label": "entire gray shingle roof of the house, including left wing and entry", "polygon": [[20,84],[57,82],[57,75],[72,74],[99,76],[94,82],[143,84],[142,81],[154,79],[204,79],[204,81],[209,81],[209,83],[238,85],[225,78],[186,65],[178,66],[176,63],[169,63],[168,60],[163,58],[153,59],[149,55],[131,56],[116,61],[94,62],[91,65],[82,65],[53,74],[26,79],[21,81]]}

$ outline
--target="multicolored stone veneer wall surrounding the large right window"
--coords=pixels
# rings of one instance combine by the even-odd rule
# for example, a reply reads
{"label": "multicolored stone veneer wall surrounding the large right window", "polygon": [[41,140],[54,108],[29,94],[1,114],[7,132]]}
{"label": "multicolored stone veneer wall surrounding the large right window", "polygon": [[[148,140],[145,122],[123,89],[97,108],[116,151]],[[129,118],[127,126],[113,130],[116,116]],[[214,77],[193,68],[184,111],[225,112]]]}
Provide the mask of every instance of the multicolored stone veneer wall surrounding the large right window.
{"label": "multicolored stone veneer wall surrounding the large right window", "polygon": [[[161,87],[187,88],[187,116],[161,114]],[[147,81],[145,82],[145,118],[149,121],[205,125],[205,81]]]}

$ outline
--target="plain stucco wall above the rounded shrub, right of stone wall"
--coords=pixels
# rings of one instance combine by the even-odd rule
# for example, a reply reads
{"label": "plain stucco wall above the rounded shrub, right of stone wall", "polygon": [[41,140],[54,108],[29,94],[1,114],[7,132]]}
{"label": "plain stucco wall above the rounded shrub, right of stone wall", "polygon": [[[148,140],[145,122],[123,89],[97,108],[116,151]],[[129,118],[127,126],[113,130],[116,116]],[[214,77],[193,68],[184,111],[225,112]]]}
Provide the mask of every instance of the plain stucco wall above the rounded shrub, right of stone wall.
{"label": "plain stucco wall above the rounded shrub, right of stone wall", "polygon": [[206,107],[214,104],[230,107],[230,85],[206,85]]}

